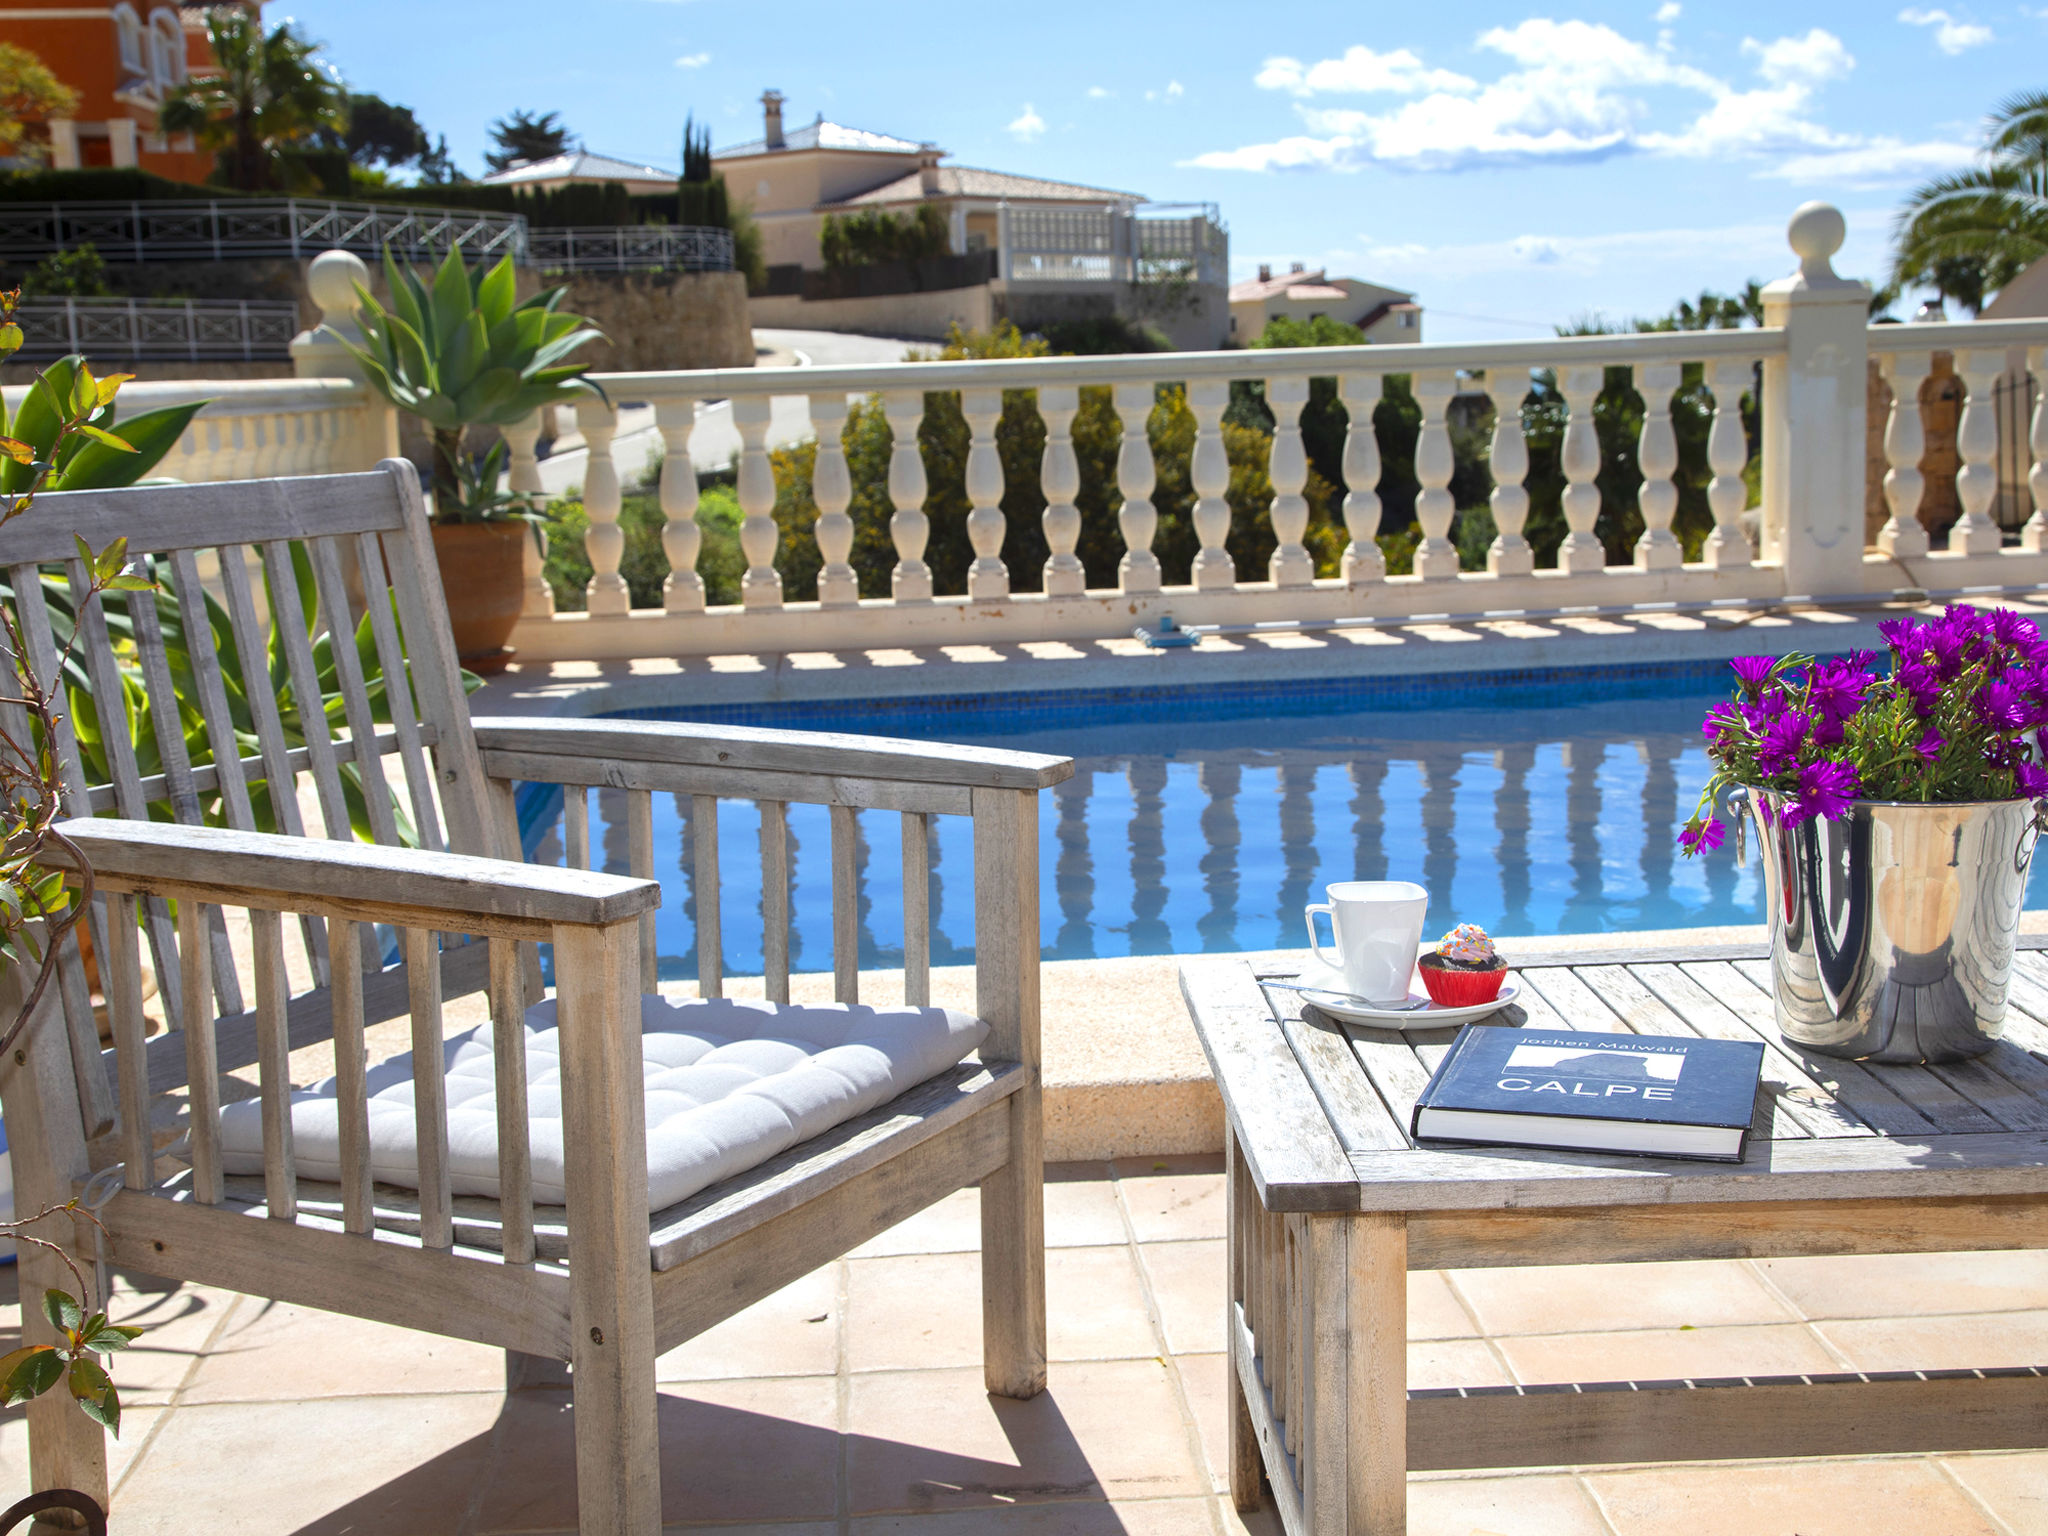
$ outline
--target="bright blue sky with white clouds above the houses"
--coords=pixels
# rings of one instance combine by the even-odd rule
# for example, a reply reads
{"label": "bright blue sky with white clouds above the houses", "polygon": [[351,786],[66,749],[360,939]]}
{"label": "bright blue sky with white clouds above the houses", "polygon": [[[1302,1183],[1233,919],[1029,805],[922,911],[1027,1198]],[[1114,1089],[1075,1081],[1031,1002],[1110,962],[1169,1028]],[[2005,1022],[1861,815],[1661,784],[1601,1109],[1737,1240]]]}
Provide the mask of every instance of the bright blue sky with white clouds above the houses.
{"label": "bright blue sky with white clouds above the houses", "polygon": [[592,150],[680,162],[788,123],[954,164],[1214,203],[1231,272],[1305,262],[1411,289],[1427,340],[1542,336],[1776,279],[1808,199],[1837,270],[1884,272],[1903,197],[2040,90],[2048,0],[1264,6],[846,0],[289,0],[352,90],[483,172],[489,123],[557,111]]}

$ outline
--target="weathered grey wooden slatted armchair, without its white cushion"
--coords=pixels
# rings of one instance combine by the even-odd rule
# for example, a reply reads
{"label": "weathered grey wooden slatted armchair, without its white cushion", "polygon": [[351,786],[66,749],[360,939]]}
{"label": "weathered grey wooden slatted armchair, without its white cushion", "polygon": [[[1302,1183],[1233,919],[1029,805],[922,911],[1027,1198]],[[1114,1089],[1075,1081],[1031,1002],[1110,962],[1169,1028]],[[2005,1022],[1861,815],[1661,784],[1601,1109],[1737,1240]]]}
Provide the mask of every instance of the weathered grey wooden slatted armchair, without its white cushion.
{"label": "weathered grey wooden slatted armchair, without its white cushion", "polygon": [[[125,535],[135,569],[178,606],[109,596],[78,616],[78,664],[96,709],[127,686],[131,709],[147,700],[152,729],[139,754],[125,729],[102,733],[106,782],[94,782],[92,754],[61,731],[70,803],[94,817],[74,819],[70,836],[100,893],[90,932],[113,1049],[100,1049],[88,979],[68,946],[35,1028],[0,1063],[23,1210],[63,1202],[94,1169],[119,1163],[121,1188],[100,1210],[111,1264],[479,1339],[508,1350],[512,1366],[532,1356],[569,1362],[586,1536],[651,1536],[662,1526],[657,1354],[956,1188],[981,1186],[987,1386],[1008,1397],[1042,1391],[1036,795],[1071,772],[1067,760],[739,727],[471,721],[420,487],[401,461],[360,475],[47,496],[0,530],[12,590],[45,592],[39,567],[68,567],[80,582],[74,535],[94,549]],[[244,551],[260,555],[281,639],[274,678]],[[217,582],[225,608],[219,645],[215,627],[188,621],[205,612],[203,557],[217,561],[205,580]],[[31,662],[49,676],[49,606],[16,600],[16,610]],[[303,700],[319,688],[326,647],[307,635],[322,625],[352,635],[350,614],[362,612],[385,680],[399,678],[410,655],[412,700],[389,688],[389,723],[379,725],[356,647],[342,643],[328,657],[336,719],[313,709],[293,723],[281,696]],[[174,729],[174,682],[203,717],[203,727],[186,717],[190,739]],[[25,729],[18,707],[12,715],[0,727]],[[397,788],[385,793],[393,768]],[[301,774],[326,838],[301,825]],[[567,786],[571,862],[578,852],[588,860],[588,834],[573,846],[586,786],[625,791],[635,877],[518,862],[514,780]],[[758,803],[766,993],[780,1004],[791,803],[831,807],[840,999],[858,985],[854,811],[901,813],[911,1004],[930,991],[930,819],[971,817],[975,1008],[989,1026],[981,1059],[649,1212],[639,997],[655,989],[659,889],[643,879],[653,872],[655,793],[690,797],[705,995],[721,991],[717,803]],[[373,842],[350,829],[352,799]],[[395,803],[418,846],[401,846]],[[203,811],[225,825],[201,825]],[[268,813],[281,831],[258,829]],[[223,909],[246,909],[246,930],[223,922]],[[397,930],[401,963],[381,963],[373,924]],[[139,940],[168,1020],[154,1038]],[[313,981],[297,993],[287,940]],[[541,995],[537,940],[553,944],[567,1149],[565,1208],[539,1210],[522,1030],[504,1028]],[[236,975],[238,944],[252,950],[252,999]],[[494,1020],[496,1200],[449,1190],[442,999],[471,991],[487,993]],[[418,1194],[373,1184],[365,1128],[365,1026],[408,1014]],[[338,1079],[338,1186],[297,1174],[289,1118],[291,1051],[326,1038]],[[221,1169],[221,1073],[250,1063],[260,1075],[264,1171],[236,1180]],[[154,1145],[150,1116],[174,1090],[190,1110],[188,1145],[166,1149]],[[90,1255],[90,1229],[80,1223],[80,1233],[78,1251]],[[47,1255],[23,1253],[25,1294],[61,1278]],[[43,1323],[35,1307],[25,1313],[33,1339]],[[104,1505],[102,1434],[63,1399],[31,1405],[35,1487],[78,1487]]]}

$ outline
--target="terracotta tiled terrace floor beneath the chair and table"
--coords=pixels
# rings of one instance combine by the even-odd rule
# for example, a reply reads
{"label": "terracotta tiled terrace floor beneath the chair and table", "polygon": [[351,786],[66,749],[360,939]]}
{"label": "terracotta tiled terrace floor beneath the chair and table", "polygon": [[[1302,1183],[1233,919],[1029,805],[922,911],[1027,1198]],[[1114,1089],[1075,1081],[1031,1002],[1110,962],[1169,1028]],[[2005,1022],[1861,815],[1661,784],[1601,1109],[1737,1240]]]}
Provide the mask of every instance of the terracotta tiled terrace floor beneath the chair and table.
{"label": "terracotta tiled terrace floor beneath the chair and table", "polygon": [[[1221,1497],[1217,1169],[1053,1169],[1034,1403],[981,1391],[973,1192],[664,1356],[672,1528],[1276,1534]],[[152,1333],[117,1370],[121,1536],[573,1528],[567,1393],[508,1399],[498,1352],[195,1286],[123,1292],[117,1315]],[[1415,1274],[1409,1339],[1415,1384],[2036,1364],[2048,1253]],[[16,1409],[0,1489],[25,1487]],[[1409,1509],[1415,1536],[2036,1536],[2048,1452],[1427,1475]]]}

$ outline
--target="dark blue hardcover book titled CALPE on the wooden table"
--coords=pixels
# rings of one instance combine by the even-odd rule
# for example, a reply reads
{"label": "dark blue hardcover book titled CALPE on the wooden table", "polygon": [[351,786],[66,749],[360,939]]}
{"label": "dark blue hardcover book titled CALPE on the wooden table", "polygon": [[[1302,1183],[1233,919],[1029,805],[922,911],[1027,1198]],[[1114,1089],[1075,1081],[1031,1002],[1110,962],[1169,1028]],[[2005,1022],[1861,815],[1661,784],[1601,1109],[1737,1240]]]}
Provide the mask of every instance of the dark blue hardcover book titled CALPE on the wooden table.
{"label": "dark blue hardcover book titled CALPE on the wooden table", "polygon": [[1761,1040],[1468,1024],[1409,1122],[1417,1141],[1743,1161]]}

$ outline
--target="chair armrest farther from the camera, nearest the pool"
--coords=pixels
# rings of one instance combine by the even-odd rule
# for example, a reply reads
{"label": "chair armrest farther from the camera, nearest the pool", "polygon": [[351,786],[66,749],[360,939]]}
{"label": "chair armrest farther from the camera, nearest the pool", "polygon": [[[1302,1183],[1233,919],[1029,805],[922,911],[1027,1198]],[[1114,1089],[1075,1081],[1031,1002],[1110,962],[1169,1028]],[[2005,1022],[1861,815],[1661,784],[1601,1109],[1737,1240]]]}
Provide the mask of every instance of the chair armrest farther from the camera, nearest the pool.
{"label": "chair armrest farther from the camera, nearest the pool", "polygon": [[963,788],[1049,788],[1073,778],[1073,758],[1051,758],[1042,752],[901,741],[887,735],[766,731],[754,725],[479,719],[475,735],[483,770],[494,778],[504,776],[492,768],[494,752]]}

